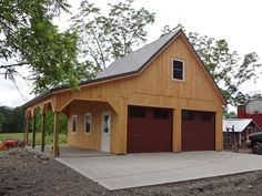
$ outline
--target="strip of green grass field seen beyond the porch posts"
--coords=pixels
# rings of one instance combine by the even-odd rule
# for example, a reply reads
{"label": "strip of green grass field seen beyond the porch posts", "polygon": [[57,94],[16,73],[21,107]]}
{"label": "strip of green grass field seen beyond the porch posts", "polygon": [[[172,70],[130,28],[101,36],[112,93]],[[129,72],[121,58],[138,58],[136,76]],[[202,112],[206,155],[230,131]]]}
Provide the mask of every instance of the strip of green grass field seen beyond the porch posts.
{"label": "strip of green grass field seen beyond the porch posts", "polygon": [[[6,141],[6,140],[23,140],[23,133],[0,133],[0,141]],[[36,134],[36,144],[40,145],[41,144],[41,133]],[[29,144],[32,142],[32,133],[29,133]],[[66,145],[68,143],[68,135],[67,134],[59,134],[59,145]],[[52,145],[52,136],[46,135],[46,145]]]}

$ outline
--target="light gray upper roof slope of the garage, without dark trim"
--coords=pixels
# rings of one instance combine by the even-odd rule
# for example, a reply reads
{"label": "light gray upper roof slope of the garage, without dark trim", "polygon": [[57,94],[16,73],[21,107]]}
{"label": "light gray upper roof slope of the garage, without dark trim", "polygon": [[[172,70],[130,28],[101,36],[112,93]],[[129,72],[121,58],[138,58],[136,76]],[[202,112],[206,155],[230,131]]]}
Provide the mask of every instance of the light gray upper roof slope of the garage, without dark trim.
{"label": "light gray upper roof slope of the garage, without dark trim", "polygon": [[172,40],[179,31],[180,29],[165,34],[157,41],[147,44],[143,48],[114,61],[105,70],[103,70],[97,76],[97,79],[110,78],[113,75],[122,75],[140,71],[140,69],[147,65],[149,60],[151,60],[151,58],[153,58],[159,52],[159,50],[165,47],[165,44],[169,43],[169,41]]}

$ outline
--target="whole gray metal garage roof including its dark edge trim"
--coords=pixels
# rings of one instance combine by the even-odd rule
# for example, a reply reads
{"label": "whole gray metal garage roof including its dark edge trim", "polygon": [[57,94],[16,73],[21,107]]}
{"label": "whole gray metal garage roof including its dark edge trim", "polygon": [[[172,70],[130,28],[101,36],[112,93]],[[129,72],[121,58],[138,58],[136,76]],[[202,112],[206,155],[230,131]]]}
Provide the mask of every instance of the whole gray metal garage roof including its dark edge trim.
{"label": "whole gray metal garage roof including its dark edge trim", "polygon": [[[151,60],[153,58],[155,58],[155,55],[159,54],[159,52],[161,52],[169,43],[171,43],[171,41],[177,38],[178,34],[183,33],[183,31],[181,29],[177,29],[175,31],[161,37],[160,39],[158,39],[157,41],[147,44],[145,47],[131,52],[130,54],[119,59],[118,61],[114,61],[113,63],[111,63],[104,71],[102,71],[95,79],[93,80],[87,80],[83,81],[81,83],[79,83],[79,86],[82,85],[87,85],[87,84],[92,84],[92,83],[97,83],[97,82],[101,82],[101,81],[107,81],[110,79],[117,79],[120,76],[124,76],[124,75],[131,75],[131,74],[135,74],[139,73],[140,71],[143,70],[143,68],[145,65],[149,64],[149,62],[151,62]],[[185,35],[184,35],[185,37]],[[187,37],[185,37],[187,38]],[[190,44],[190,42],[189,42]],[[191,45],[191,44],[190,44]],[[199,58],[198,53],[195,52],[195,50],[193,49],[193,47],[191,45],[193,52],[195,53],[196,58],[201,61],[201,59]],[[202,62],[202,61],[201,61]],[[203,64],[203,62],[202,62]],[[206,68],[204,66],[204,69],[206,70]],[[211,76],[211,74],[209,73],[209,71],[206,70],[208,74],[210,75],[210,79],[213,80],[213,78]],[[226,102],[223,93],[220,91],[218,84],[214,82],[214,85],[218,87],[219,92],[221,93],[224,102]],[[50,91],[32,99],[31,101],[27,102],[23,107],[28,107],[31,104],[38,102],[39,100],[44,99],[46,96],[48,96],[50,93],[54,93],[57,91],[60,90],[64,90],[64,89],[69,89],[68,85],[62,85],[59,87],[54,87],[51,89]]]}

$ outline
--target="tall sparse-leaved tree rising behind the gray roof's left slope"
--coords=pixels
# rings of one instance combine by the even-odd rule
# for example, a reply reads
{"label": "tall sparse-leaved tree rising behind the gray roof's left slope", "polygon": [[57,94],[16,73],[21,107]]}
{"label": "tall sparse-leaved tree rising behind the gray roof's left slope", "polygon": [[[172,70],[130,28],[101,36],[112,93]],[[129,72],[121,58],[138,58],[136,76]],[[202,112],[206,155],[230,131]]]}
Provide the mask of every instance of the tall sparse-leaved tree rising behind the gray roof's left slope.
{"label": "tall sparse-leaved tree rising behind the gray roof's left slope", "polygon": [[109,3],[102,14],[94,3],[83,0],[79,14],[72,18],[72,30],[78,32],[80,59],[88,69],[87,78],[94,76],[112,60],[130,53],[147,39],[147,25],[154,22],[154,13],[144,8],[132,8],[132,0]]}

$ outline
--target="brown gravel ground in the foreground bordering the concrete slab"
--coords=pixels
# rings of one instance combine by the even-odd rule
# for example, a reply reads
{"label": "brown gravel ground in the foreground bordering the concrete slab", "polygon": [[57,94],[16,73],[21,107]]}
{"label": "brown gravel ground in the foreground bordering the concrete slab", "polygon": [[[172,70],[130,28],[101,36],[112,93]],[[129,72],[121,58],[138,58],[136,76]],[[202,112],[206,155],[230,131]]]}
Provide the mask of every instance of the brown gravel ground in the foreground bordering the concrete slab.
{"label": "brown gravel ground in the foreground bordering the concrete slab", "polygon": [[0,154],[0,196],[261,196],[262,171],[110,192],[46,155],[14,148]]}

